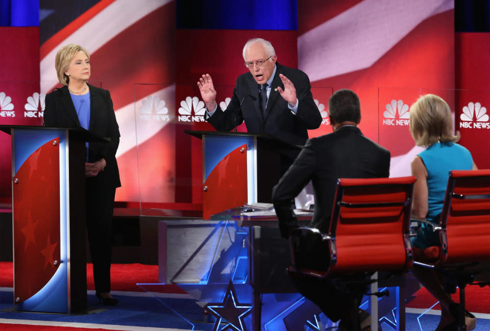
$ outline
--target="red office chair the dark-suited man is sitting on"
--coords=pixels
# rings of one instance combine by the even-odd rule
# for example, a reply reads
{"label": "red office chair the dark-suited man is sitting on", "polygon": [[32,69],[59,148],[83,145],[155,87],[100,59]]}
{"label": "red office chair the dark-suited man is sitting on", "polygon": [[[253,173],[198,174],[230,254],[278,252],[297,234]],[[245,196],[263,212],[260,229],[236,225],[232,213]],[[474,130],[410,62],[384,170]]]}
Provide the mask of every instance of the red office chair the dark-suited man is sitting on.
{"label": "red office chair the dark-suited man is sitting on", "polygon": [[[358,298],[367,284],[377,281],[367,277],[372,273],[393,274],[410,269],[414,182],[413,176],[339,179],[329,233],[307,227],[291,231],[289,271],[336,278],[352,289],[349,295]],[[387,291],[371,294],[387,295]],[[403,312],[399,315],[401,323]]]}

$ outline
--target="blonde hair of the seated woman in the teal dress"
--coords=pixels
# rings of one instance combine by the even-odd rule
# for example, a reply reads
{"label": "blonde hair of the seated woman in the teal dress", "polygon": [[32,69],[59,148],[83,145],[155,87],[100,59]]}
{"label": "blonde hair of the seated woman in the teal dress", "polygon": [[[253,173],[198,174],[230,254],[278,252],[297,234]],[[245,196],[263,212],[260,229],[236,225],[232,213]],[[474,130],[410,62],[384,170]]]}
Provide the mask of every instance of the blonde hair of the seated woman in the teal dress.
{"label": "blonde hair of the seated woman in the teal dress", "polygon": [[410,133],[417,146],[430,146],[436,142],[456,142],[449,105],[440,96],[422,95],[410,107]]}

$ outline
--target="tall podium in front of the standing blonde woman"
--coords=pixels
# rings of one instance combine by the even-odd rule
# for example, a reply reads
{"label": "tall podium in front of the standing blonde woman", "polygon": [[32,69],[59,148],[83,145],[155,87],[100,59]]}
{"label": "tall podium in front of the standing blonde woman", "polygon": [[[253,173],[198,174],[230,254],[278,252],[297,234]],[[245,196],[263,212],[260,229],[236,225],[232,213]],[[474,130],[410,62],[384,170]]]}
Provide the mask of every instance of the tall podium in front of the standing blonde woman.
{"label": "tall podium in front of the standing blonde woman", "polygon": [[0,125],[12,136],[14,309],[87,307],[85,129]]}

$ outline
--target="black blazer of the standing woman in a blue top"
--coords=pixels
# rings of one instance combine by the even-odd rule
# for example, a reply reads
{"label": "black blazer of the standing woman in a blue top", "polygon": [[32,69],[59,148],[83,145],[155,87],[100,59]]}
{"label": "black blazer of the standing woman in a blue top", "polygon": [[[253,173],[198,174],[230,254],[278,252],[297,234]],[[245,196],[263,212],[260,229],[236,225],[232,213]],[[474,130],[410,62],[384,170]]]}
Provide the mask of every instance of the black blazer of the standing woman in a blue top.
{"label": "black blazer of the standing woman in a blue top", "polygon": [[[88,162],[95,162],[104,158],[107,162],[106,168],[97,176],[103,177],[104,183],[107,183],[110,187],[120,187],[121,181],[116,161],[120,134],[111,95],[107,90],[92,85],[88,85],[88,87],[90,89],[90,124],[88,131],[97,136],[111,139],[110,143],[89,143]],[[44,124],[55,128],[81,127],[67,86],[55,89],[46,95]]]}

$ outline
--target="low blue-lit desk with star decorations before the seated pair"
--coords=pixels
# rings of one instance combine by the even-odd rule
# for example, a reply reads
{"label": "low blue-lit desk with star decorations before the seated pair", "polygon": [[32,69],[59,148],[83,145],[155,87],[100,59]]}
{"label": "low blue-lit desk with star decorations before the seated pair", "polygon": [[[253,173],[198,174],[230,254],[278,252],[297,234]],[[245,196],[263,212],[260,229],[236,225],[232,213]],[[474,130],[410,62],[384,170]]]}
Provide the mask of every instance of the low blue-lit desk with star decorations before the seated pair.
{"label": "low blue-lit desk with star decorations before the seated pair", "polygon": [[[289,242],[280,238],[277,219],[248,217],[242,211],[234,209],[219,213],[210,221],[160,221],[160,283],[179,285],[204,306],[209,302],[222,302],[232,280],[238,301],[252,306],[245,320],[249,330],[304,329],[308,321],[314,324],[315,318],[322,318],[324,327],[334,326],[323,318],[316,305],[295,293],[296,289],[289,282],[285,273],[285,268],[290,265]],[[309,223],[310,218],[311,214],[300,216],[304,223]],[[273,239],[269,241],[267,236]],[[264,244],[277,245],[275,251],[283,254],[271,258]],[[271,271],[274,267],[276,270]],[[397,327],[392,314],[397,301],[403,302],[420,288],[412,280],[404,275],[395,283],[380,283],[380,289],[390,287],[390,296],[383,297],[378,303],[380,323],[384,321]],[[397,287],[400,287],[399,292]],[[361,308],[369,309],[367,298],[363,302]],[[403,329],[403,316],[399,321],[403,326],[398,329]]]}

